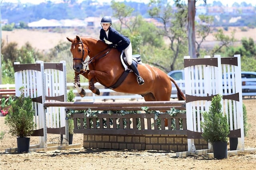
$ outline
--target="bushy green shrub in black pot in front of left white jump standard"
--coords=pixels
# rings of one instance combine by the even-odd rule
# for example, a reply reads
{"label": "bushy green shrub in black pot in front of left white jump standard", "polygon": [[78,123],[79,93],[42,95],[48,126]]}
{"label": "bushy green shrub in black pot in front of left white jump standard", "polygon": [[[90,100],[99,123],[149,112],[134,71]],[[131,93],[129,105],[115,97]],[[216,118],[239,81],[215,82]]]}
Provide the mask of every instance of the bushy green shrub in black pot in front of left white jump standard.
{"label": "bushy green shrub in black pot in front of left white jump standard", "polygon": [[11,135],[17,137],[18,152],[28,152],[28,136],[33,133],[35,127],[35,112],[32,108],[32,99],[24,97],[24,87],[19,90],[21,95],[12,103],[4,123],[10,128]]}

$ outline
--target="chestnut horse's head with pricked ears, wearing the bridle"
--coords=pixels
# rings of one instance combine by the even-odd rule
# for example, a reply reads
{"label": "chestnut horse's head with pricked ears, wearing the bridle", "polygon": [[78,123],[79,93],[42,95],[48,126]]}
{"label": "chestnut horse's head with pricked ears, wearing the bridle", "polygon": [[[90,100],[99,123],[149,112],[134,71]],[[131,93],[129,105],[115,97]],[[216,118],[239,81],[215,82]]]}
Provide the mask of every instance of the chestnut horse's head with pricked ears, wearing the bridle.
{"label": "chestnut horse's head with pricked ears, wearing the bridle", "polygon": [[70,51],[73,55],[73,69],[76,72],[80,72],[83,69],[83,63],[88,56],[89,49],[77,35],[74,39],[68,37],[67,39],[72,43]]}

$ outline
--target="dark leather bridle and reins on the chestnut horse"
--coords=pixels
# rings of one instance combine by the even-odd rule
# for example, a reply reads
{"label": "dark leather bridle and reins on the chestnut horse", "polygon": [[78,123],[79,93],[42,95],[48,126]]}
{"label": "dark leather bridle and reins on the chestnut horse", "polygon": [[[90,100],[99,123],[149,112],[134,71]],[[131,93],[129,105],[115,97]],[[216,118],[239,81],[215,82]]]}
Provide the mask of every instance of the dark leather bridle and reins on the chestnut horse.
{"label": "dark leather bridle and reins on the chestnut horse", "polygon": [[[88,66],[90,63],[92,63],[92,61],[93,61],[96,57],[98,57],[100,53],[102,53],[103,51],[105,51],[106,49],[109,48],[109,47],[105,48],[103,51],[101,51],[100,53],[98,53],[96,56],[92,57],[90,60],[88,60],[88,61],[85,62],[86,58],[87,58],[88,55],[89,55],[90,50],[88,49],[88,47],[85,47],[85,49],[88,50],[88,55],[85,57],[85,59],[84,59],[84,61],[83,61],[83,58],[84,58],[84,43],[83,43],[82,41],[80,41],[80,42],[75,43],[75,44],[72,44],[72,45],[75,46],[75,45],[78,45],[78,44],[82,44],[82,50],[83,50],[83,51],[82,51],[82,58],[81,58],[81,59],[80,59],[80,58],[73,58],[73,61],[74,61],[74,60],[81,60],[81,63],[82,63],[82,65],[83,65],[83,67],[85,66],[85,69],[82,68],[82,70],[86,70],[87,66]],[[111,48],[109,48],[109,49],[111,50]],[[106,53],[104,53],[100,58],[106,56],[106,55],[110,52],[110,50],[107,51]],[[86,63],[87,63],[87,64],[86,64]]]}

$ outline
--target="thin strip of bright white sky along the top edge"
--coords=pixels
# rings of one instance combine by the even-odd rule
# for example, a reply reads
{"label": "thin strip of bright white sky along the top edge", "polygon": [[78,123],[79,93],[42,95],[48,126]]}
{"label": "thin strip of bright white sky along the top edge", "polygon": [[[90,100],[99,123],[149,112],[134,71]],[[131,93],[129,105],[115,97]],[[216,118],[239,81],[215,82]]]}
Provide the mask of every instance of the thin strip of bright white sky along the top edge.
{"label": "thin strip of bright white sky along the top edge", "polygon": [[[22,2],[22,3],[27,3],[30,2],[32,4],[40,4],[41,2],[47,2],[48,0],[0,0],[0,2],[12,2],[12,3],[16,3],[16,2]],[[60,2],[61,0],[50,0],[52,2]],[[82,2],[84,0],[77,0],[78,2]],[[111,0],[100,0],[103,2],[110,2]],[[117,2],[122,2],[124,0],[116,0]],[[144,3],[148,3],[149,0],[126,0],[126,1],[136,1],[136,2],[144,2]],[[173,0],[168,0],[170,2],[173,2]],[[212,4],[214,0],[207,0],[206,2],[208,4]],[[256,6],[256,0],[215,0],[215,1],[220,1],[224,6],[228,5],[228,6],[232,6],[232,4],[234,2],[237,2],[238,4],[240,4],[241,2],[246,2],[247,4],[252,4],[252,6]],[[199,2],[199,3],[198,3]],[[200,3],[204,3],[203,0],[199,0],[197,4]]]}

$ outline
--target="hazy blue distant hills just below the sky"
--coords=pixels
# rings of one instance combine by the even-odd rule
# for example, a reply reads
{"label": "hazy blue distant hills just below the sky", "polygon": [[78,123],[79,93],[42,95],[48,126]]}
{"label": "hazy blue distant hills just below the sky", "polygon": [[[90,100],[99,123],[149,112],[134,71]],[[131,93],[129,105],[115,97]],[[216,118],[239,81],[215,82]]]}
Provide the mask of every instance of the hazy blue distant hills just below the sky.
{"label": "hazy blue distant hills just below the sky", "polygon": [[[148,18],[148,4],[141,2],[124,1],[124,4],[134,8],[134,15],[142,15]],[[175,9],[176,7],[173,6]],[[200,5],[196,8],[196,14],[212,15],[214,26],[256,26],[256,7],[245,2],[234,3],[232,7],[226,7],[220,1],[213,4]],[[63,1],[54,3],[43,2],[38,5],[3,2],[1,5],[2,21],[10,23],[31,23],[43,18],[47,20],[84,20],[88,17],[112,16],[110,3],[102,3],[100,0],[86,0],[82,3],[77,1]],[[232,18],[239,18],[235,22],[230,22]]]}

